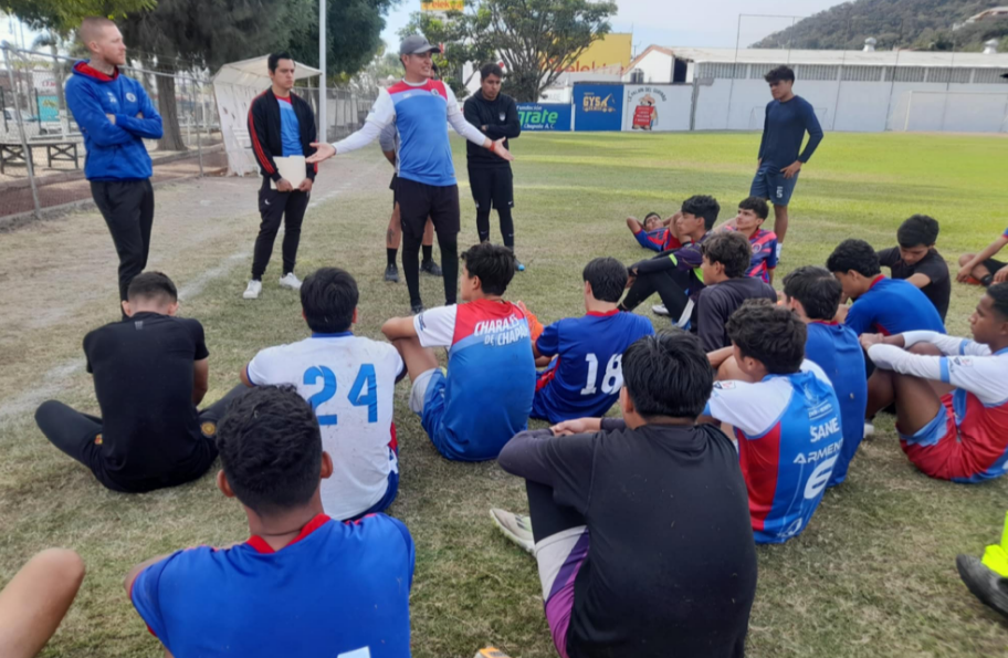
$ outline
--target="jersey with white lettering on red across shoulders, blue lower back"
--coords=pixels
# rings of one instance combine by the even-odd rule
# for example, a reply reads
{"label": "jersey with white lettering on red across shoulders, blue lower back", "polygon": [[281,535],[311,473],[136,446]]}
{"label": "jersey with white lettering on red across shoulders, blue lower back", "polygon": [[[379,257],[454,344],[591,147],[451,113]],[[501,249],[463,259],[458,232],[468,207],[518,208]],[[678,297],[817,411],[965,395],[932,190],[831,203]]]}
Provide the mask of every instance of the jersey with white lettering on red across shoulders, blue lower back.
{"label": "jersey with white lettering on red across shoulders, blue lower back", "polygon": [[424,347],[448,347],[437,443],[454,459],[495,459],[525,431],[532,411],[536,369],[525,313],[511,302],[477,300],[424,311],[413,327]]}

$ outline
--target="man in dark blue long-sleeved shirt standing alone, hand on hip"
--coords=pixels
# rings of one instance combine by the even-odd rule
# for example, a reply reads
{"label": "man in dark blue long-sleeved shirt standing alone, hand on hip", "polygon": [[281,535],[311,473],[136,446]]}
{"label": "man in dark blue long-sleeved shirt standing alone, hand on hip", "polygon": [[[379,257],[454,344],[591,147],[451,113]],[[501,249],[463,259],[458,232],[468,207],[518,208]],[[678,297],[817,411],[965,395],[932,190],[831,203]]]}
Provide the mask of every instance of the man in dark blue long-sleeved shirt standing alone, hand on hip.
{"label": "man in dark blue long-sleeved shirt standing alone, hand on hip", "polygon": [[[774,203],[774,232],[777,233],[779,259],[784,237],[787,234],[788,202],[798,184],[801,166],[812,157],[816,147],[822,142],[822,127],[811,104],[791,91],[795,84],[794,71],[778,66],[766,74],[766,81],[774,100],[767,105],[763,142],[759,143],[759,168],[753,179],[749,196]],[[805,150],[801,150],[806,133],[809,134],[809,140]]]}

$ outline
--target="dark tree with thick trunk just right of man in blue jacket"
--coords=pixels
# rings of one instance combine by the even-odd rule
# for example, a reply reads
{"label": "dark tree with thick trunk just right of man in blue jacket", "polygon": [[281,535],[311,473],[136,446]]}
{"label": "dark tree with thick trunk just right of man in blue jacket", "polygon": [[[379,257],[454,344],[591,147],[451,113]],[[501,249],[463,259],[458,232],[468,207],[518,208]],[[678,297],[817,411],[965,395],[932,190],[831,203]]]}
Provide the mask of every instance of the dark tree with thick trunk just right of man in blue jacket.
{"label": "dark tree with thick trunk just right of man in blue jacket", "polygon": [[304,28],[313,0],[159,0],[153,11],[119,23],[126,44],[156,75],[165,126],[159,147],[186,150],[179,128],[175,74],[219,69],[281,50]]}

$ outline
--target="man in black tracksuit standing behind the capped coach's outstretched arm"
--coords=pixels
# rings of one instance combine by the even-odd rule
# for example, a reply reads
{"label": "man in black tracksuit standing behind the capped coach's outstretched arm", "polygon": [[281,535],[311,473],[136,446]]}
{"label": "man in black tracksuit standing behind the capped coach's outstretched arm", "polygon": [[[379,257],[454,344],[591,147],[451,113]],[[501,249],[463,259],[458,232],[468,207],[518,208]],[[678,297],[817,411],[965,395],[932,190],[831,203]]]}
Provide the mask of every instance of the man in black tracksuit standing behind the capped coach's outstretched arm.
{"label": "man in black tracksuit standing behind the capped coach's outstretched arm", "polygon": [[[462,107],[465,121],[480,126],[490,139],[515,139],[522,134],[518,121],[518,107],[514,98],[501,93],[501,79],[504,72],[496,64],[486,64],[480,70],[482,80],[479,92],[470,96]],[[498,158],[475,144],[466,147],[469,164],[469,185],[473,200],[476,202],[476,230],[480,242],[490,240],[490,210],[495,208],[501,216],[501,236],[504,246],[514,251],[514,221],[511,209],[514,208],[514,185],[511,163]],[[521,262],[518,271],[525,271]]]}

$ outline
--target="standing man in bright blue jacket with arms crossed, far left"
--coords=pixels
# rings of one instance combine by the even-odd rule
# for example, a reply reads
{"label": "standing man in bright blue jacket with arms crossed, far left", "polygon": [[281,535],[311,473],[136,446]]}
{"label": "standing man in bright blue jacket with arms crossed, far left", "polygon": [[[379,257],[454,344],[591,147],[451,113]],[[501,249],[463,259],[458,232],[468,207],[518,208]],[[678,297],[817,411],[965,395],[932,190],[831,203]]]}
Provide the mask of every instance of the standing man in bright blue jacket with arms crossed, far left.
{"label": "standing man in bright blue jacket with arms crossed, far left", "polygon": [[80,36],[91,60],[74,65],[66,104],[84,135],[84,175],[119,255],[119,300],[125,302],[150,250],[154,188],[144,139],[161,138],[161,117],[143,85],[119,73],[126,44],[114,22],[86,18]]}

